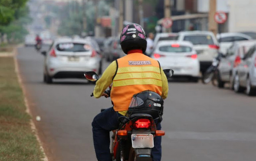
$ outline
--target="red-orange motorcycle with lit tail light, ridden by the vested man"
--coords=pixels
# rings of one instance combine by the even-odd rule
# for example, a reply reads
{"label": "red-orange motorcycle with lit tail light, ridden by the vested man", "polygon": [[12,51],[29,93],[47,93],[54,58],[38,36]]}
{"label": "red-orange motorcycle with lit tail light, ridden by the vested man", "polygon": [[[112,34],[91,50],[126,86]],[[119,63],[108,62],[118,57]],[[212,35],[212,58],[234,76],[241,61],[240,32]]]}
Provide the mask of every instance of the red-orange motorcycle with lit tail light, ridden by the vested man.
{"label": "red-orange motorcycle with lit tail light, ridden by the vested man", "polygon": [[[165,69],[164,73],[167,79],[170,78],[174,71]],[[93,72],[85,72],[87,80],[96,82],[99,76]],[[111,86],[105,93],[110,96]],[[93,93],[91,94],[91,97]],[[107,97],[107,96],[105,96]],[[101,112],[104,109],[101,109]],[[154,137],[164,136],[163,130],[156,129],[155,119],[152,115],[145,112],[147,110],[129,107],[127,115],[119,117],[119,128],[112,131],[113,135],[110,142],[110,152],[112,159],[116,161],[152,161],[151,149],[154,148]],[[162,117],[159,118],[162,121]]]}

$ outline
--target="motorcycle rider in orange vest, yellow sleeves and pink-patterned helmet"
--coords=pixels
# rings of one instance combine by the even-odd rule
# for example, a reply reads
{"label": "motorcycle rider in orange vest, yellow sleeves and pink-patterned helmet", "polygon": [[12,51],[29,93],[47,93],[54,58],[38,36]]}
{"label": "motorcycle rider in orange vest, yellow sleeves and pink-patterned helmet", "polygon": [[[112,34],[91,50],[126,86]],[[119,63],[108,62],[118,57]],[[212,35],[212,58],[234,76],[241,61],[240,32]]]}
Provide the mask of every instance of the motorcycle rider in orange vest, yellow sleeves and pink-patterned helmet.
{"label": "motorcycle rider in orange vest, yellow sleeves and pink-patterned helmet", "polygon": [[[109,132],[119,127],[118,117],[124,116],[134,94],[144,90],[158,93],[165,99],[168,81],[158,61],[144,55],[147,48],[144,29],[135,23],[126,25],[120,36],[120,44],[126,56],[113,61],[96,82],[95,98],[108,97],[104,91],[112,84],[111,100],[114,107],[99,113],[92,122],[93,141],[98,161],[112,161],[109,150]],[[157,124],[157,130],[161,124]],[[154,138],[152,158],[161,160],[161,136]]]}

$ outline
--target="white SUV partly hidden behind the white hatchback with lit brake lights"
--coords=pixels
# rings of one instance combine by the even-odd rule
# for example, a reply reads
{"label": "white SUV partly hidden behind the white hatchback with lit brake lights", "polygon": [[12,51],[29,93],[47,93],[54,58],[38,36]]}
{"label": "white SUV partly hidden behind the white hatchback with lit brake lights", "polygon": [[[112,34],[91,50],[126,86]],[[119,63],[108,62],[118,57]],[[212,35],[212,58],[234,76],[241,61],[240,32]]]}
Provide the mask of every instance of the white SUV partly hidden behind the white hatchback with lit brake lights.
{"label": "white SUV partly hidden behind the white hatchback with lit brake lights", "polygon": [[210,31],[184,31],[179,32],[179,41],[190,41],[194,45],[200,61],[200,70],[204,73],[218,55],[218,42]]}

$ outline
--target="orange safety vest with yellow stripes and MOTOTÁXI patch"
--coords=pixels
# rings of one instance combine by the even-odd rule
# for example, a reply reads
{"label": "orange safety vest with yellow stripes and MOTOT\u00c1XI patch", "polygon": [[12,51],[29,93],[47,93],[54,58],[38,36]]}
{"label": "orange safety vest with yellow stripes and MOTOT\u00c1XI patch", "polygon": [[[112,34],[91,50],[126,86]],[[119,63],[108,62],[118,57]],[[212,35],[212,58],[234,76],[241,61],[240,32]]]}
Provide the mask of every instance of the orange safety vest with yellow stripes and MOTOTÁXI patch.
{"label": "orange safety vest with yellow stripes and MOTOT\u00c1XI patch", "polygon": [[128,110],[132,96],[144,90],[162,95],[162,77],[159,62],[141,53],[128,54],[117,59],[111,100],[115,111]]}

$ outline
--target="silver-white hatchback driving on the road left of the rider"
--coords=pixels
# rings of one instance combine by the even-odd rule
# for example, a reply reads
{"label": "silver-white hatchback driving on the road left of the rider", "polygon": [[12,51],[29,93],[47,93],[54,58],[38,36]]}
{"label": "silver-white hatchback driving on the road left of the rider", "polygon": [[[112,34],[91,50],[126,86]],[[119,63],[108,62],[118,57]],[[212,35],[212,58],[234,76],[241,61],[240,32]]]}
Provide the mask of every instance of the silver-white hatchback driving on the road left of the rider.
{"label": "silver-white hatchback driving on the road left of the rider", "polygon": [[101,56],[84,39],[58,39],[42,54],[45,55],[45,83],[52,83],[53,78],[84,78],[85,71],[101,70]]}

